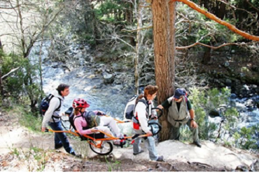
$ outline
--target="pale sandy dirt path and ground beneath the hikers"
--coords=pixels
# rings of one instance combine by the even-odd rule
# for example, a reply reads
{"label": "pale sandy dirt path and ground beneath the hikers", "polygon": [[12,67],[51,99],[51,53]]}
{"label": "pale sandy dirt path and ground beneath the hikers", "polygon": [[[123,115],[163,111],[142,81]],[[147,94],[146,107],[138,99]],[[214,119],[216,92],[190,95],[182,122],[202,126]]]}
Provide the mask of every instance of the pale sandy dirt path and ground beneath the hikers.
{"label": "pale sandy dirt path and ground beneath the hikers", "polygon": [[210,142],[202,148],[193,144],[165,141],[158,153],[165,162],[148,159],[148,152],[132,155],[132,148],[115,148],[110,156],[98,156],[85,142],[69,136],[73,148],[83,158],[53,150],[53,135],[31,132],[18,123],[18,116],[0,114],[0,171],[60,172],[219,172],[259,171],[258,156],[238,149],[227,149]]}

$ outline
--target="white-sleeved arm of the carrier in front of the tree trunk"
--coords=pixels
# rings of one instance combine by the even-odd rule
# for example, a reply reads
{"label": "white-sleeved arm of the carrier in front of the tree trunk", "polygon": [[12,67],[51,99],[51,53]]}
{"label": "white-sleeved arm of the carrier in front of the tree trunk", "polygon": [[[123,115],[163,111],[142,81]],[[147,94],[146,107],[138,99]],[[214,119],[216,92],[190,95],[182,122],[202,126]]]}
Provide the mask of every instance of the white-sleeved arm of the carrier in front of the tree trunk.
{"label": "white-sleeved arm of the carrier in front of the tree trunk", "polygon": [[149,133],[150,130],[148,128],[148,121],[146,118],[146,105],[144,103],[139,102],[135,108],[135,112],[137,112],[137,114],[138,114],[141,129],[145,133]]}

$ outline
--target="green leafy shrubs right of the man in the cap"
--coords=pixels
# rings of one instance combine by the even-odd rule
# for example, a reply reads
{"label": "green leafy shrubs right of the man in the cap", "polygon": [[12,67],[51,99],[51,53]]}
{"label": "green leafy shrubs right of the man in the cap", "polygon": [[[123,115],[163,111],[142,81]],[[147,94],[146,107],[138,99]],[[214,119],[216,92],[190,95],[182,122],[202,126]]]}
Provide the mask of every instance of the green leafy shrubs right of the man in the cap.
{"label": "green leafy shrubs right of the man in the cap", "polygon": [[[230,89],[223,88],[209,89],[208,91],[198,91],[196,88],[190,89],[189,99],[195,110],[196,121],[199,125],[199,137],[202,140],[214,140],[215,142],[223,143],[225,146],[235,144],[242,149],[258,149],[254,134],[259,130],[259,126],[251,128],[243,127],[239,130],[237,127],[239,112],[235,107],[227,107],[230,105],[228,98],[230,97]],[[209,121],[209,112],[211,110],[221,109],[221,119],[219,123]],[[221,128],[220,128],[221,126]],[[188,140],[190,133],[186,129],[181,130],[181,140]],[[229,137],[224,137],[225,135]]]}

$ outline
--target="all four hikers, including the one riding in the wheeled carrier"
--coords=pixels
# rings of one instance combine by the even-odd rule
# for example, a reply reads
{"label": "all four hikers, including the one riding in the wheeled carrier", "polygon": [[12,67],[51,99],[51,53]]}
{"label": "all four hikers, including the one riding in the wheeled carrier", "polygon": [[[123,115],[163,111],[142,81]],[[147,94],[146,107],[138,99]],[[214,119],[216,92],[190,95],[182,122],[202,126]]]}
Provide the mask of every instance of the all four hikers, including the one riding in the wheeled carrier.
{"label": "all four hikers, including the one riding in the wheeled carrier", "polygon": [[[135,107],[134,107],[134,118],[137,119],[137,122],[135,121],[133,123],[132,128],[134,129],[134,132],[136,134],[144,134],[146,133],[147,137],[144,138],[144,142],[146,144],[146,148],[149,152],[149,158],[151,160],[156,161],[162,161],[163,156],[158,156],[158,152],[155,148],[155,140],[153,137],[153,134],[148,128],[148,121],[151,119],[149,113],[148,113],[148,105],[151,105],[151,107],[154,107],[153,100],[155,99],[155,96],[158,92],[158,87],[153,85],[148,85],[144,89],[144,94],[140,94],[137,98]],[[52,91],[52,95],[55,96],[50,100],[49,107],[47,112],[45,112],[45,116],[43,117],[43,123],[42,123],[42,132],[45,131],[45,128],[47,126],[50,126],[52,130],[63,130],[61,126],[61,114],[60,114],[60,108],[59,110],[56,110],[57,107],[59,107],[59,103],[63,104],[64,97],[69,95],[69,85],[66,84],[59,84],[57,89],[55,91]],[[139,101],[141,100],[141,101]],[[145,104],[145,102],[147,104]],[[90,105],[87,103],[86,100],[82,98],[76,98],[73,100],[73,123],[80,135],[89,135],[93,133],[97,133],[98,130],[104,131],[104,133],[108,133],[110,135],[113,135],[111,133],[111,130],[113,133],[115,133],[116,137],[123,137],[123,134],[120,133],[120,129],[117,126],[116,121],[112,117],[107,116],[99,116],[100,122],[96,126],[90,125],[87,120],[84,118],[83,114],[86,114],[87,107],[90,107]],[[193,142],[197,146],[201,147],[201,144],[199,142],[198,138],[198,128],[197,123],[195,122],[195,112],[193,110],[193,107],[190,103],[190,100],[187,98],[187,93],[185,89],[176,89],[174,92],[174,96],[168,98],[163,102],[161,105],[158,105],[160,109],[168,109],[169,114],[167,116],[167,120],[169,123],[172,124],[173,128],[173,138],[174,140],[179,140],[180,137],[180,127],[184,124],[187,124],[190,128],[190,130],[193,132]],[[89,112],[88,112],[89,113]],[[104,112],[101,111],[93,111],[92,114],[104,114]],[[151,114],[153,119],[157,119],[156,113],[152,112]],[[111,130],[107,127],[109,126]],[[121,145],[120,140],[114,140],[113,144]],[[141,138],[137,137],[133,144],[133,154],[137,155],[139,153],[144,152],[143,149],[141,149]],[[71,145],[69,144],[69,141],[67,140],[65,133],[55,133],[55,149],[59,149],[62,146],[64,146],[64,149],[67,153],[71,153],[73,156],[76,156],[76,152],[73,150]]]}

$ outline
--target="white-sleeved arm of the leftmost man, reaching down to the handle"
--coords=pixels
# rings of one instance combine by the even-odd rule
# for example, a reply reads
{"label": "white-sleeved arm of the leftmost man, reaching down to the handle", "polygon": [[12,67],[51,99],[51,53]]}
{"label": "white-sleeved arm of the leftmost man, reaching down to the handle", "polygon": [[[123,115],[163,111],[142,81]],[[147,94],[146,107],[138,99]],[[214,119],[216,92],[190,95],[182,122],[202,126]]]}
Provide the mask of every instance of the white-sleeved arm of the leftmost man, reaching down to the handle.
{"label": "white-sleeved arm of the leftmost man, reaching down to the handle", "polygon": [[43,117],[41,131],[45,131],[45,128],[48,126],[48,121],[50,121],[54,111],[59,107],[59,98],[52,98],[49,103],[48,110],[45,112],[45,115]]}

